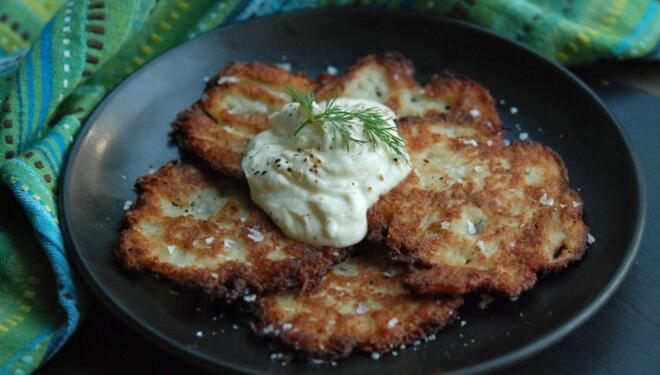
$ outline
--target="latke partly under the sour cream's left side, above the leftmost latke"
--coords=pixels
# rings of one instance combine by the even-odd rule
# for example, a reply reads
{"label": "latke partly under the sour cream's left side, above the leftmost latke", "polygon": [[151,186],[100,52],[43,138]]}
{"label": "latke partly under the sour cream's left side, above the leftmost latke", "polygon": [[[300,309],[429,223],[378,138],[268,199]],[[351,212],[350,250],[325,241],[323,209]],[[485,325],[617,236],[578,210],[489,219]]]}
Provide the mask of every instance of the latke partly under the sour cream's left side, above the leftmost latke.
{"label": "latke partly under the sour cream's left side, above the leftmost latke", "polygon": [[243,178],[241,159],[257,133],[270,127],[268,116],[291,101],[285,88],[314,90],[304,74],[278,66],[234,62],[209,81],[202,99],[172,124],[177,138],[214,169]]}

